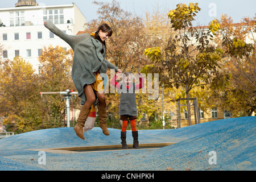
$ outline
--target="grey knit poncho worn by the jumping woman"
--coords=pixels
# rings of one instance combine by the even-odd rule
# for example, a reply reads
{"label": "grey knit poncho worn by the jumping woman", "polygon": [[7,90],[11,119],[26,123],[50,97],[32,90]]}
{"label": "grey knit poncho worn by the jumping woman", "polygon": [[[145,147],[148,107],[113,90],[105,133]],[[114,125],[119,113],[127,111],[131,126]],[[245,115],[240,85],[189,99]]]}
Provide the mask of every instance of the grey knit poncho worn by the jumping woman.
{"label": "grey knit poncho worn by the jumping woman", "polygon": [[[83,105],[86,101],[84,85],[92,84],[96,81],[96,77],[93,72],[99,70],[100,73],[106,73],[107,68],[115,69],[115,72],[117,72],[118,68],[105,59],[105,46],[89,34],[65,34],[57,28],[51,20],[44,23],[44,26],[53,32],[53,34],[67,42],[74,51],[72,79],[77,92],[79,93],[79,97],[81,98],[81,105]],[[101,53],[102,47],[104,49],[104,53]]]}

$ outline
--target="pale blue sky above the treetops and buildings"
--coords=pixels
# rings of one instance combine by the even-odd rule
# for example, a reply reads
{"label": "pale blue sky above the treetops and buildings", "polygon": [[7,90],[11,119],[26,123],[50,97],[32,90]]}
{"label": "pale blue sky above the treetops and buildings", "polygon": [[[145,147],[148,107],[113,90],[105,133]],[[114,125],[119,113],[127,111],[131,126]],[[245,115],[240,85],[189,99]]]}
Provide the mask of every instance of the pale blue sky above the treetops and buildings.
{"label": "pale blue sky above the treetops and buildings", "polygon": [[[84,14],[85,18],[89,22],[92,19],[97,18],[97,9],[99,6],[92,4],[94,0],[37,0],[37,3],[43,3],[45,5],[64,5],[72,2],[76,3],[77,7]],[[97,0],[99,2],[112,2],[112,0]],[[116,0],[118,1],[118,0]],[[0,7],[15,7],[15,3],[18,0],[8,0],[5,3],[1,3]],[[190,2],[198,2],[201,8],[200,13],[197,15],[194,25],[204,26],[207,25],[210,20],[214,18],[220,18],[222,14],[232,16],[234,23],[239,23],[241,18],[250,16],[251,18],[256,13],[256,1],[255,0],[119,0],[121,8],[130,13],[137,14],[138,16],[144,16],[146,11],[152,12],[157,5],[160,10],[175,9],[179,3],[189,4]]]}

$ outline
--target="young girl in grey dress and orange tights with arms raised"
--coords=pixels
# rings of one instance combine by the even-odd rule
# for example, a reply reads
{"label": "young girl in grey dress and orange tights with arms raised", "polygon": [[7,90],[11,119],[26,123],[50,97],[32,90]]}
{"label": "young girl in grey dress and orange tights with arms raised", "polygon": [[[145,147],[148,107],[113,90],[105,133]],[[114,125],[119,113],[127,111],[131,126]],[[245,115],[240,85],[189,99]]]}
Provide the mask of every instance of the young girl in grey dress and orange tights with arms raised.
{"label": "young girl in grey dress and orange tights with arms raised", "polygon": [[121,140],[123,149],[127,149],[126,144],[126,128],[128,119],[130,119],[131,123],[131,133],[133,135],[133,147],[139,148],[138,141],[138,131],[136,130],[135,119],[137,118],[137,104],[136,104],[136,96],[135,90],[141,89],[144,87],[144,79],[141,73],[139,73],[139,84],[135,85],[133,82],[133,75],[129,72],[125,72],[122,75],[122,82],[115,81],[117,74],[113,77],[110,84],[114,85],[115,88],[121,91],[120,96],[120,105],[119,105],[119,115],[120,120],[123,121],[122,131],[121,131]]}

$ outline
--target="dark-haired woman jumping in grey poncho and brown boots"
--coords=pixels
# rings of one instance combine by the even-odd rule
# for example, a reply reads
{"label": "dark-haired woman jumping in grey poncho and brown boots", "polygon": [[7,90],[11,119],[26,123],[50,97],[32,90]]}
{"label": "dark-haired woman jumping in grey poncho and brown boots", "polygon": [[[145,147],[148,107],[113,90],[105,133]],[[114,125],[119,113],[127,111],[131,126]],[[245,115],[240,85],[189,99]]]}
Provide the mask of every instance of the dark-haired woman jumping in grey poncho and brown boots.
{"label": "dark-haired woman jumping in grey poncho and brown boots", "polygon": [[83,127],[88,118],[91,106],[96,101],[96,97],[99,101],[98,118],[100,127],[105,135],[109,135],[108,128],[106,127],[105,94],[98,92],[96,80],[99,79],[96,79],[96,77],[100,76],[100,73],[106,73],[107,68],[115,69],[115,72],[122,73],[121,69],[118,69],[105,59],[105,40],[112,35],[112,28],[108,24],[101,24],[95,34],[91,36],[89,34],[65,34],[51,20],[44,22],[44,26],[67,42],[74,51],[72,79],[81,98],[82,105],[79,117],[77,118],[77,125],[74,127],[77,136],[85,139]]}

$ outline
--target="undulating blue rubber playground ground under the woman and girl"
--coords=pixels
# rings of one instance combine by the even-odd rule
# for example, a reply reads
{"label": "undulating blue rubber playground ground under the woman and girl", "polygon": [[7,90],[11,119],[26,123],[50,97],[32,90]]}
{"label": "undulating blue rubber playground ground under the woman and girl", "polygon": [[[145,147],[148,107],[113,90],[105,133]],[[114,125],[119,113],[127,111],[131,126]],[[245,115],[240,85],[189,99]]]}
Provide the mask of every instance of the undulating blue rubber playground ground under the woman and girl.
{"label": "undulating blue rubber playground ground under the woman and girl", "polygon": [[[0,139],[1,171],[255,171],[256,117],[221,119],[173,130],[138,130],[139,144],[167,143],[160,148],[55,152],[49,148],[120,144],[121,130],[98,127],[78,138],[70,128],[31,131]],[[127,144],[132,144],[127,131]],[[44,151],[44,159],[42,153]]]}

